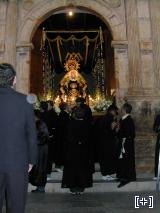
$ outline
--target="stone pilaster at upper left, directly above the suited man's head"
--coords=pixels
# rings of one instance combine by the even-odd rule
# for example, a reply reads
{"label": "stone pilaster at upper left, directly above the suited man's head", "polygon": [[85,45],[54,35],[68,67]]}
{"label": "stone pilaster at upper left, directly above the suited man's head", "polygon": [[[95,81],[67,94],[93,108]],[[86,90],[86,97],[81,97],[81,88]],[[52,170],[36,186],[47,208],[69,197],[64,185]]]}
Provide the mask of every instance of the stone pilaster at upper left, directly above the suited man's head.
{"label": "stone pilaster at upper left, directly above the suited man's head", "polygon": [[5,30],[5,57],[7,63],[16,65],[16,34],[17,34],[17,1],[7,3],[7,17]]}

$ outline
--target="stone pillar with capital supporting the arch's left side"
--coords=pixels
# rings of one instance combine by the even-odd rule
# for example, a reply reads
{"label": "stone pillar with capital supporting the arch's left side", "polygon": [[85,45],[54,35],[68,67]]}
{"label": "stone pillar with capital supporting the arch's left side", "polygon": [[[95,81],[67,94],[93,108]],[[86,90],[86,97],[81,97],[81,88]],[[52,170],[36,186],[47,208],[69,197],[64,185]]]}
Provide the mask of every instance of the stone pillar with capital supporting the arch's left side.
{"label": "stone pillar with capital supporting the arch's left side", "polygon": [[25,44],[17,46],[17,85],[16,90],[27,94],[30,88],[30,57],[33,45]]}

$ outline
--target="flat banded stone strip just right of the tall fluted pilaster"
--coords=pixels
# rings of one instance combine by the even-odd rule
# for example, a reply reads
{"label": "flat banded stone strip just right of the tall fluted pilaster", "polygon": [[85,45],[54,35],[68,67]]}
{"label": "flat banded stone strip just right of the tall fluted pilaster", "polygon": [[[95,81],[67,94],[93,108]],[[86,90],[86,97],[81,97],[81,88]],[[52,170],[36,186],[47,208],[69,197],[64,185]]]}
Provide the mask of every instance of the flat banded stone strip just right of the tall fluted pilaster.
{"label": "flat banded stone strip just right of the tall fluted pilaster", "polygon": [[151,22],[149,0],[138,0],[138,23],[142,69],[142,87],[144,94],[152,96],[154,88],[153,54],[151,40]]}

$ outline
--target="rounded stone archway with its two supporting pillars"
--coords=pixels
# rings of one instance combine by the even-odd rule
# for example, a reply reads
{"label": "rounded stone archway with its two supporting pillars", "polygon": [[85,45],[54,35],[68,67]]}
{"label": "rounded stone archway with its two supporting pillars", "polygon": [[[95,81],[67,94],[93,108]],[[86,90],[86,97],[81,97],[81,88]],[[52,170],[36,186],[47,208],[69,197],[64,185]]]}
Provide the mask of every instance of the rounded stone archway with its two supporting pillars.
{"label": "rounded stone archway with its two supporting pillars", "polygon": [[[124,18],[116,12],[115,7],[121,5],[121,0],[109,3],[109,0],[93,1],[88,0],[69,0],[69,1],[41,1],[30,5],[29,12],[20,20],[17,33],[17,71],[18,82],[17,90],[24,93],[29,91],[29,70],[30,70],[30,54],[33,45],[31,43],[32,36],[38,28],[39,24],[54,11],[68,7],[70,4],[84,8],[84,10],[92,11],[93,14],[99,16],[109,27],[112,33],[115,58],[115,73],[117,83],[117,94],[121,95],[128,89],[126,78],[128,73],[128,51],[126,41],[126,26]],[[121,72],[120,72],[121,71]]]}

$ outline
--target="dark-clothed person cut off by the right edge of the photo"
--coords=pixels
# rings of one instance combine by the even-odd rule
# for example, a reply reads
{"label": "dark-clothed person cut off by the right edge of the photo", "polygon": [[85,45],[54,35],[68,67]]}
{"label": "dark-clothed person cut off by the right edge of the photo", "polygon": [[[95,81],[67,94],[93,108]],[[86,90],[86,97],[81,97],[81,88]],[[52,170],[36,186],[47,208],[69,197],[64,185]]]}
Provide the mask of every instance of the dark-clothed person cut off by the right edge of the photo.
{"label": "dark-clothed person cut off by the right edge of the photo", "polygon": [[157,133],[157,140],[155,146],[155,164],[154,164],[154,180],[157,180],[158,175],[158,163],[159,163],[159,150],[160,150],[160,114],[158,114],[154,120],[153,131]]}

